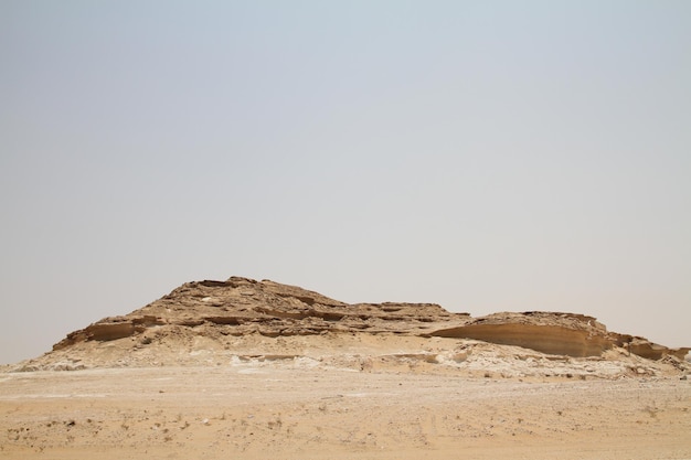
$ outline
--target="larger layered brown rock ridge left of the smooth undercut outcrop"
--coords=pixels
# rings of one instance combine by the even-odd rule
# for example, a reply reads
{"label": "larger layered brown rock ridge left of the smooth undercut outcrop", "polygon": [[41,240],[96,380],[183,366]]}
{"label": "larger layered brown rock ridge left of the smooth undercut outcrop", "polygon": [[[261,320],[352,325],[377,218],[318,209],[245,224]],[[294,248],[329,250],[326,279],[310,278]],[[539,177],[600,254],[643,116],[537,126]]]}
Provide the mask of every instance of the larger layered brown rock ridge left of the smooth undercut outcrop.
{"label": "larger layered brown rock ridge left of the smooth undercut outcrop", "polygon": [[110,341],[146,331],[182,327],[223,335],[315,335],[327,332],[432,334],[463,324],[465,313],[433,303],[347,304],[278,282],[232,277],[187,282],[168,296],[124,317],[105,318],[70,333],[53,350],[85,341]]}

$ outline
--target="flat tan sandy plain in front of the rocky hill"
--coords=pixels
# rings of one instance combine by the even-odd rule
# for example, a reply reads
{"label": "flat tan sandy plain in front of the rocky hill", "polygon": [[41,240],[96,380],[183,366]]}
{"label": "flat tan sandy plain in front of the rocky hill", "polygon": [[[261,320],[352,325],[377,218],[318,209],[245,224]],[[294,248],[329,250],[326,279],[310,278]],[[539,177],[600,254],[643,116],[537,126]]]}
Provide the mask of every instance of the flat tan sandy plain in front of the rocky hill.
{"label": "flat tan sandy plain in front of the rocky hill", "polygon": [[691,382],[305,359],[0,374],[2,459],[691,459]]}

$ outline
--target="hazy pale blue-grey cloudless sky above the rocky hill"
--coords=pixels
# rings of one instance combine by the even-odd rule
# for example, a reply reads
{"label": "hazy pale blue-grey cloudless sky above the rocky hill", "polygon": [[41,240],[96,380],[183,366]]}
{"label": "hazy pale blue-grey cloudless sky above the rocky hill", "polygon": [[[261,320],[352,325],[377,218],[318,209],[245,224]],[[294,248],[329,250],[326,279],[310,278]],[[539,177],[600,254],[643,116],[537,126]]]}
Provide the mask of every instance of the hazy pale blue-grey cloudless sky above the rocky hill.
{"label": "hazy pale blue-grey cloudless sky above the rocky hill", "polygon": [[0,0],[0,363],[179,285],[691,346],[691,2]]}

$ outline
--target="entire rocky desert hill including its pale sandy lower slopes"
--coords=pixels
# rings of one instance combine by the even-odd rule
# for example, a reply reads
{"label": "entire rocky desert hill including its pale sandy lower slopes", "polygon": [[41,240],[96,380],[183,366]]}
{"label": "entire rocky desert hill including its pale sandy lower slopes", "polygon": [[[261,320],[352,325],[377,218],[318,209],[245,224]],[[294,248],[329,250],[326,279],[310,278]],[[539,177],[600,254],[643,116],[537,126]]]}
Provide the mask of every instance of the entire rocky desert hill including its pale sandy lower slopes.
{"label": "entire rocky desert hill including its pale sandy lower slopes", "polygon": [[[495,356],[492,368],[506,367],[502,375],[533,375],[530,368],[576,375],[594,363],[618,364],[598,375],[648,375],[687,372],[689,350],[609,332],[583,314],[471,318],[434,303],[349,304],[295,286],[231,277],[184,284],[129,314],[67,334],[52,352],[13,370],[311,360],[358,370],[379,363],[471,373]],[[554,371],[554,363],[565,364]]]}

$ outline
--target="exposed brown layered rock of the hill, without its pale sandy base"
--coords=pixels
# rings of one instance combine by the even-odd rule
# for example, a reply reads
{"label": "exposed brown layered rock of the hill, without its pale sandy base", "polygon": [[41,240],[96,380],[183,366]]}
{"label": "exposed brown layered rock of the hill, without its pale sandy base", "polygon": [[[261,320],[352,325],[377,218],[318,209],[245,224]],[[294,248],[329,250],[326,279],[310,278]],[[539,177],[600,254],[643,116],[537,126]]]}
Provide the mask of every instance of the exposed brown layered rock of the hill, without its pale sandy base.
{"label": "exposed brown layered rock of the hill, without its pale sandy base", "polygon": [[137,336],[146,343],[151,340],[147,333],[152,331],[158,335],[183,331],[206,338],[389,333],[471,339],[575,357],[598,356],[623,346],[647,359],[671,355],[683,360],[690,350],[610,333],[595,318],[582,314],[533,311],[474,319],[433,303],[348,304],[299,287],[241,277],[184,284],[127,315],[106,318],[70,333],[53,350]]}

